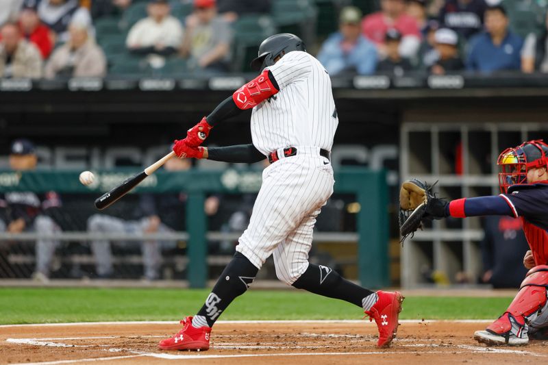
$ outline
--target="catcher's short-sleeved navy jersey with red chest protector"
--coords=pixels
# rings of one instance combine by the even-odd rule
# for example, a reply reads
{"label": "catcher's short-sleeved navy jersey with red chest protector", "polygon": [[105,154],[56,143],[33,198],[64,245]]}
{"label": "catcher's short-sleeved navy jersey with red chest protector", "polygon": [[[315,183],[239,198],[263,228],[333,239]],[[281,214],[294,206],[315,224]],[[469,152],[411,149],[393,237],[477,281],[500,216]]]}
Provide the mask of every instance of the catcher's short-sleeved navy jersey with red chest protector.
{"label": "catcher's short-sleeved navy jersey with red chest protector", "polygon": [[501,194],[514,217],[521,218],[536,265],[548,264],[548,181],[510,186]]}

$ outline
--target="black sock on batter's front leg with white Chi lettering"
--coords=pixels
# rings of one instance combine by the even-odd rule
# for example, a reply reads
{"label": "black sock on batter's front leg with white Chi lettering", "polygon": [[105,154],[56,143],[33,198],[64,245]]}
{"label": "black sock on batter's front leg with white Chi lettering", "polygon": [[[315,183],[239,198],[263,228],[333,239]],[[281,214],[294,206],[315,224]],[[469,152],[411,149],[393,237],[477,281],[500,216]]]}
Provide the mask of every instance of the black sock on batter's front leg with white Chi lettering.
{"label": "black sock on batter's front leg with white Chi lettering", "polygon": [[245,293],[257,276],[258,271],[259,269],[251,264],[247,257],[236,252],[232,261],[223,270],[221,277],[217,279],[212,292],[206,299],[206,303],[198,312],[199,316],[206,317],[209,327],[212,327],[223,310],[236,297]]}

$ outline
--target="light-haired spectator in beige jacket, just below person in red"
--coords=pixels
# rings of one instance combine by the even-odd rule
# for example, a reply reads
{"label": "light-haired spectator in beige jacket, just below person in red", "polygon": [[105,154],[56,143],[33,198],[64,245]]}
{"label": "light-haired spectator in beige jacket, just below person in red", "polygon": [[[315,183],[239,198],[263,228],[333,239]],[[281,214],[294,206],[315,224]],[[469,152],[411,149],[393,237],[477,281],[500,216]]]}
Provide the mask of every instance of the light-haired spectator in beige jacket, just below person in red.
{"label": "light-haired spectator in beige jacket, just below person in red", "polygon": [[70,38],[53,51],[45,67],[45,77],[103,77],[106,59],[101,47],[89,36],[90,23],[73,20]]}

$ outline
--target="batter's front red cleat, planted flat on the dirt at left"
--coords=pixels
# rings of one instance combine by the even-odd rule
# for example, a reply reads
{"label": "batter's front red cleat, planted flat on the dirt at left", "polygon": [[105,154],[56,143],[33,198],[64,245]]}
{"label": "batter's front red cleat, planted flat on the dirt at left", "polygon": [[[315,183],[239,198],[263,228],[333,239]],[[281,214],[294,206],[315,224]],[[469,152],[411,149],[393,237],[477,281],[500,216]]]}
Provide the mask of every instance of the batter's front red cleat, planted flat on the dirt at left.
{"label": "batter's front red cleat, planted flat on the dirt at left", "polygon": [[192,317],[181,320],[183,329],[175,336],[162,340],[158,347],[162,350],[197,350],[206,351],[210,348],[210,327],[192,327]]}

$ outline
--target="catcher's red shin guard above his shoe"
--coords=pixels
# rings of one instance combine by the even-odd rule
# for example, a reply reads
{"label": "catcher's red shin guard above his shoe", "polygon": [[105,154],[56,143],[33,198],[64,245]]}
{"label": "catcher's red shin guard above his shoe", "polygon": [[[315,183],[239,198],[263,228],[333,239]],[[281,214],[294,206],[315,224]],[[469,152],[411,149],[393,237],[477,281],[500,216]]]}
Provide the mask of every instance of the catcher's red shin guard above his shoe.
{"label": "catcher's red shin guard above his shoe", "polygon": [[[521,283],[521,289],[506,312],[487,327],[487,330],[501,335],[510,332],[512,324],[514,327],[525,327],[536,318],[537,312],[545,307],[546,286],[548,286],[548,266],[541,265],[532,268]],[[514,319],[514,323],[510,320],[510,316]],[[514,328],[514,331],[521,331],[521,329]]]}

